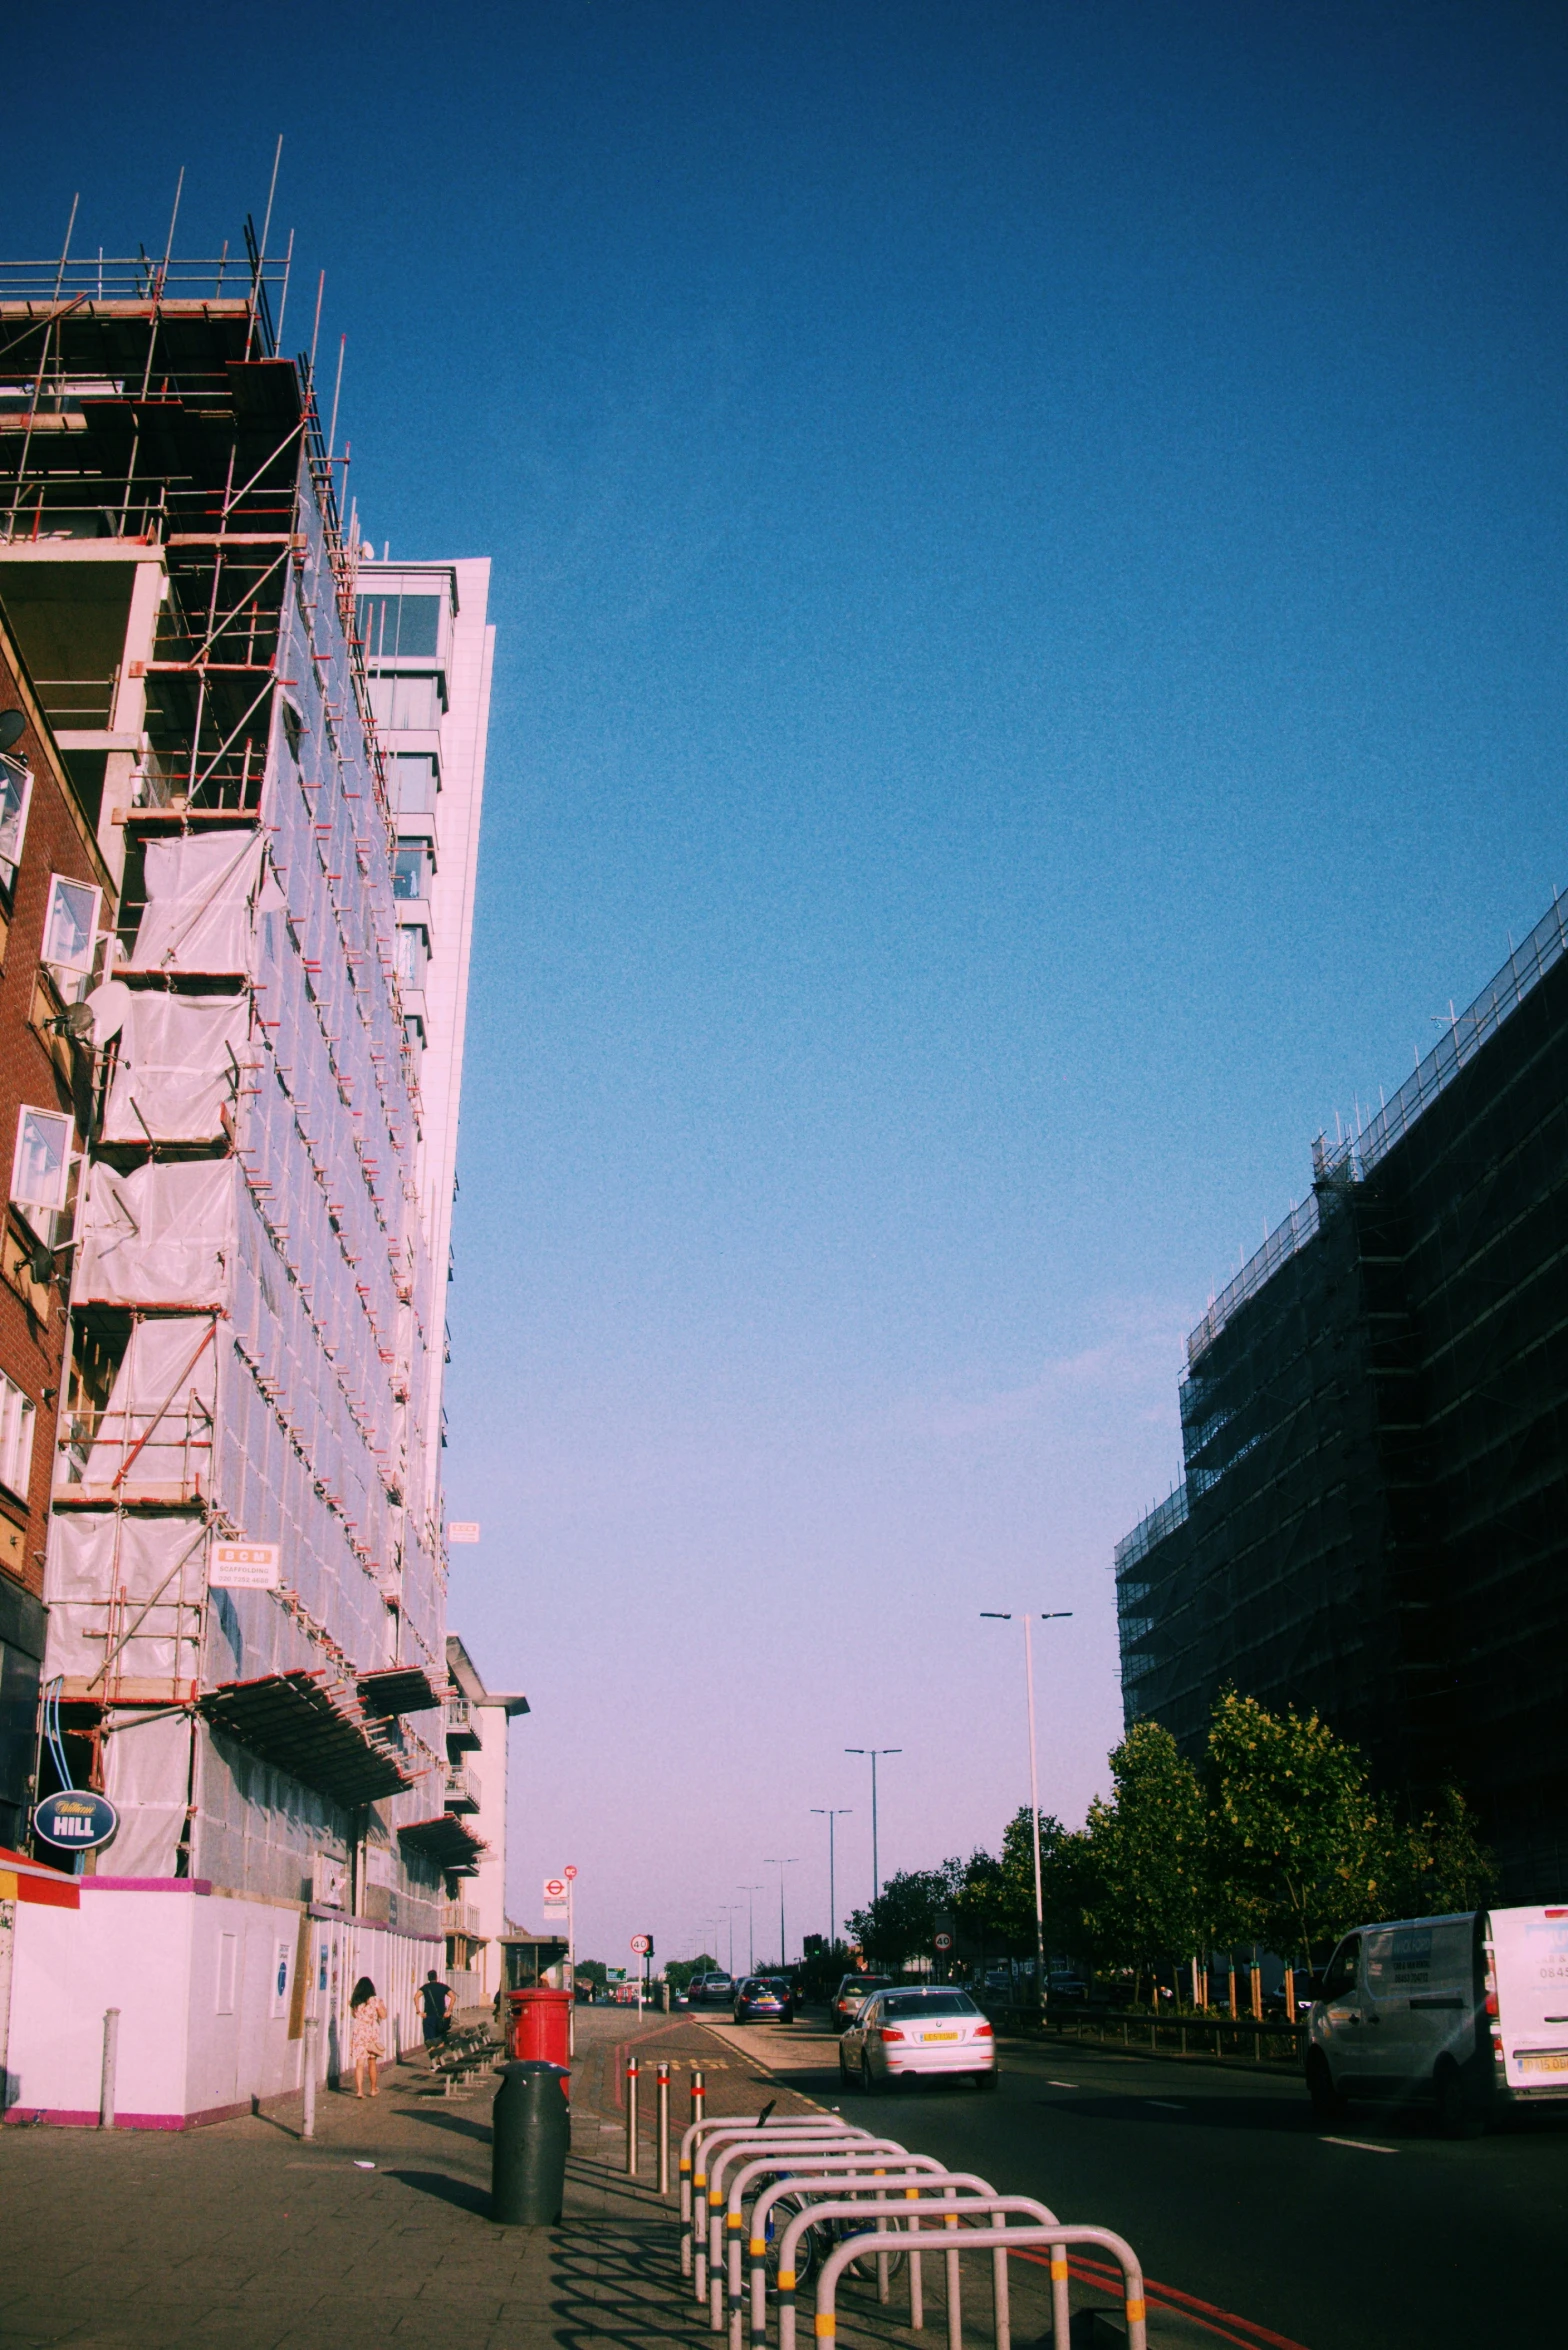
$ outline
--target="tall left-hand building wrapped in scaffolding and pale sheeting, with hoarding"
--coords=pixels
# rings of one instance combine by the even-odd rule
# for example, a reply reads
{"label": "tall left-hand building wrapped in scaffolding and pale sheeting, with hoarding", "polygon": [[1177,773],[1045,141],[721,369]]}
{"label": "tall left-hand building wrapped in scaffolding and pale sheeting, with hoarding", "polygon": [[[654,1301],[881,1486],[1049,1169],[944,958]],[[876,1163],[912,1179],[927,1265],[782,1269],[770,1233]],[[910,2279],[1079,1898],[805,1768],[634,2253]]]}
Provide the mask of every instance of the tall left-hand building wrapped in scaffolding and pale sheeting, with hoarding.
{"label": "tall left-hand building wrapped in scaffolding and pale sheeting, with hoarding", "polygon": [[444,1264],[355,533],[287,273],[247,230],[240,266],[0,294],[0,597],[120,886],[85,975],[40,1793],[54,1755],[122,1826],[80,1929],[19,1948],[9,2099],[89,2106],[118,2005],[122,2108],[190,2120],[294,2087],[308,2012],[334,2063],[357,1972],[411,2035],[475,1866],[440,1711]]}

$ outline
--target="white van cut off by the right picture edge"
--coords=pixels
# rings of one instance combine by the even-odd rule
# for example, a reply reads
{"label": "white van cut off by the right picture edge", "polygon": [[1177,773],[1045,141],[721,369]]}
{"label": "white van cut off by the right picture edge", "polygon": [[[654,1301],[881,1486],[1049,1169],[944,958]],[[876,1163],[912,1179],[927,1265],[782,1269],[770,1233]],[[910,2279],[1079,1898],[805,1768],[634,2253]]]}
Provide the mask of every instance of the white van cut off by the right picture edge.
{"label": "white van cut off by the right picture edge", "polygon": [[1568,2103],[1568,1904],[1356,1927],[1312,2002],[1307,2092],[1321,2120],[1432,2096],[1460,2138],[1502,2106]]}

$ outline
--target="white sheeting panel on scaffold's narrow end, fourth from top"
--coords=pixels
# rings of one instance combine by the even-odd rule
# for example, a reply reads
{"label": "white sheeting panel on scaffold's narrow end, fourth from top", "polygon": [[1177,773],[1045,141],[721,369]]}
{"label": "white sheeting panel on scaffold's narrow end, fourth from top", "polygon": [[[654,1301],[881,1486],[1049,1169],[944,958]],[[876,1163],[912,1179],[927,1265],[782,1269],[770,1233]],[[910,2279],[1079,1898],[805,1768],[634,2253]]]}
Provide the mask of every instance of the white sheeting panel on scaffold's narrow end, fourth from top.
{"label": "white sheeting panel on scaffold's narrow end, fourth from top", "polygon": [[216,1330],[205,1316],[143,1321],[115,1372],[82,1483],[136,1499],[148,1485],[162,1499],[195,1502],[212,1492],[219,1396]]}

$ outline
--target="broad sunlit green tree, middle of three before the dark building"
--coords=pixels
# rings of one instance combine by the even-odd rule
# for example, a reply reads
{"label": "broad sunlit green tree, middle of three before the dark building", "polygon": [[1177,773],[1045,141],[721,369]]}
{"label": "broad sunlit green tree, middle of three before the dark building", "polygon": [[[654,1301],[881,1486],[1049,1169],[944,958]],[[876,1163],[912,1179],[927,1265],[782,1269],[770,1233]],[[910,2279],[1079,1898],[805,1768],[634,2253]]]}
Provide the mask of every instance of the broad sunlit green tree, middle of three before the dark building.
{"label": "broad sunlit green tree, middle of three before the dark building", "polygon": [[1382,1915],[1389,1835],[1361,1751],[1316,1713],[1274,1716],[1225,1690],[1208,1727],[1215,1939],[1300,1950],[1307,1965]]}

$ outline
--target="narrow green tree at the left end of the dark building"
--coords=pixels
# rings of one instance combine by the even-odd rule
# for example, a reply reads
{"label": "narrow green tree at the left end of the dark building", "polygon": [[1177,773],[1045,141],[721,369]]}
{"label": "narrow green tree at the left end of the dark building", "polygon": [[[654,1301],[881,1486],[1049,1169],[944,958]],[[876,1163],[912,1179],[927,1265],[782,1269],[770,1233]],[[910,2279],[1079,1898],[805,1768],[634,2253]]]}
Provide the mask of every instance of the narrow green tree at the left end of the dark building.
{"label": "narrow green tree at the left end of the dark building", "polygon": [[1159,1723],[1133,1723],[1110,1758],[1081,1849],[1086,1927],[1098,1955],[1143,1972],[1208,1939],[1208,1810],[1199,1774]]}

